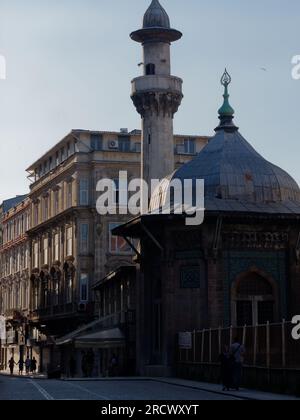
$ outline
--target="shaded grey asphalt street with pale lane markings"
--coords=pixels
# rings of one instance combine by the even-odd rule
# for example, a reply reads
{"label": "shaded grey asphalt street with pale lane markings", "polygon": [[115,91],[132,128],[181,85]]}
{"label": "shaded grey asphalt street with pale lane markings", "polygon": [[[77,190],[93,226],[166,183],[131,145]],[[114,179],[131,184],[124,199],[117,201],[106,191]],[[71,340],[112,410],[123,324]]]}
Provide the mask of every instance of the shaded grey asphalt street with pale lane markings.
{"label": "shaded grey asphalt street with pale lane markings", "polygon": [[0,400],[236,400],[230,396],[154,381],[49,381],[0,377]]}

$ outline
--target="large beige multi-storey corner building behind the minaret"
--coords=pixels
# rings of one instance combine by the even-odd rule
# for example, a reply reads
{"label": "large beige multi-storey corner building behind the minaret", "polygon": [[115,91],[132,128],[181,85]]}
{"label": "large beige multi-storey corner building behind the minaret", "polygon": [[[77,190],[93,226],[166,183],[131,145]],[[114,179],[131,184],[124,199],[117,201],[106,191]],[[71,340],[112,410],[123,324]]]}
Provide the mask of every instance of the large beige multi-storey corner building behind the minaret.
{"label": "large beige multi-storey corner building behind the minaret", "polygon": [[[188,162],[208,137],[174,136],[176,167]],[[28,168],[30,185],[31,322],[48,337],[61,336],[95,317],[92,286],[120,265],[132,264],[132,250],[111,230],[130,215],[100,216],[97,182],[140,176],[141,131],[73,130]],[[44,349],[44,364],[50,350]]]}

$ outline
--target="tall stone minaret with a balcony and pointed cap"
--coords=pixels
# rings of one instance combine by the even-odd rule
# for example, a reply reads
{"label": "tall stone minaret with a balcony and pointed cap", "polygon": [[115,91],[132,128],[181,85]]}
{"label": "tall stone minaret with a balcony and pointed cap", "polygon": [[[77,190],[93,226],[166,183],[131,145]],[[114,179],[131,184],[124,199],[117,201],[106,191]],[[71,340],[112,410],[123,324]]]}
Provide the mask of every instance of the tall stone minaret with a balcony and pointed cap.
{"label": "tall stone minaret with a balcony and pointed cap", "polygon": [[182,80],[171,76],[171,43],[182,33],[171,29],[158,0],[144,15],[143,29],[131,38],[143,46],[144,74],[132,81],[132,100],[142,117],[142,179],[162,179],[174,169],[173,117],[183,95]]}

